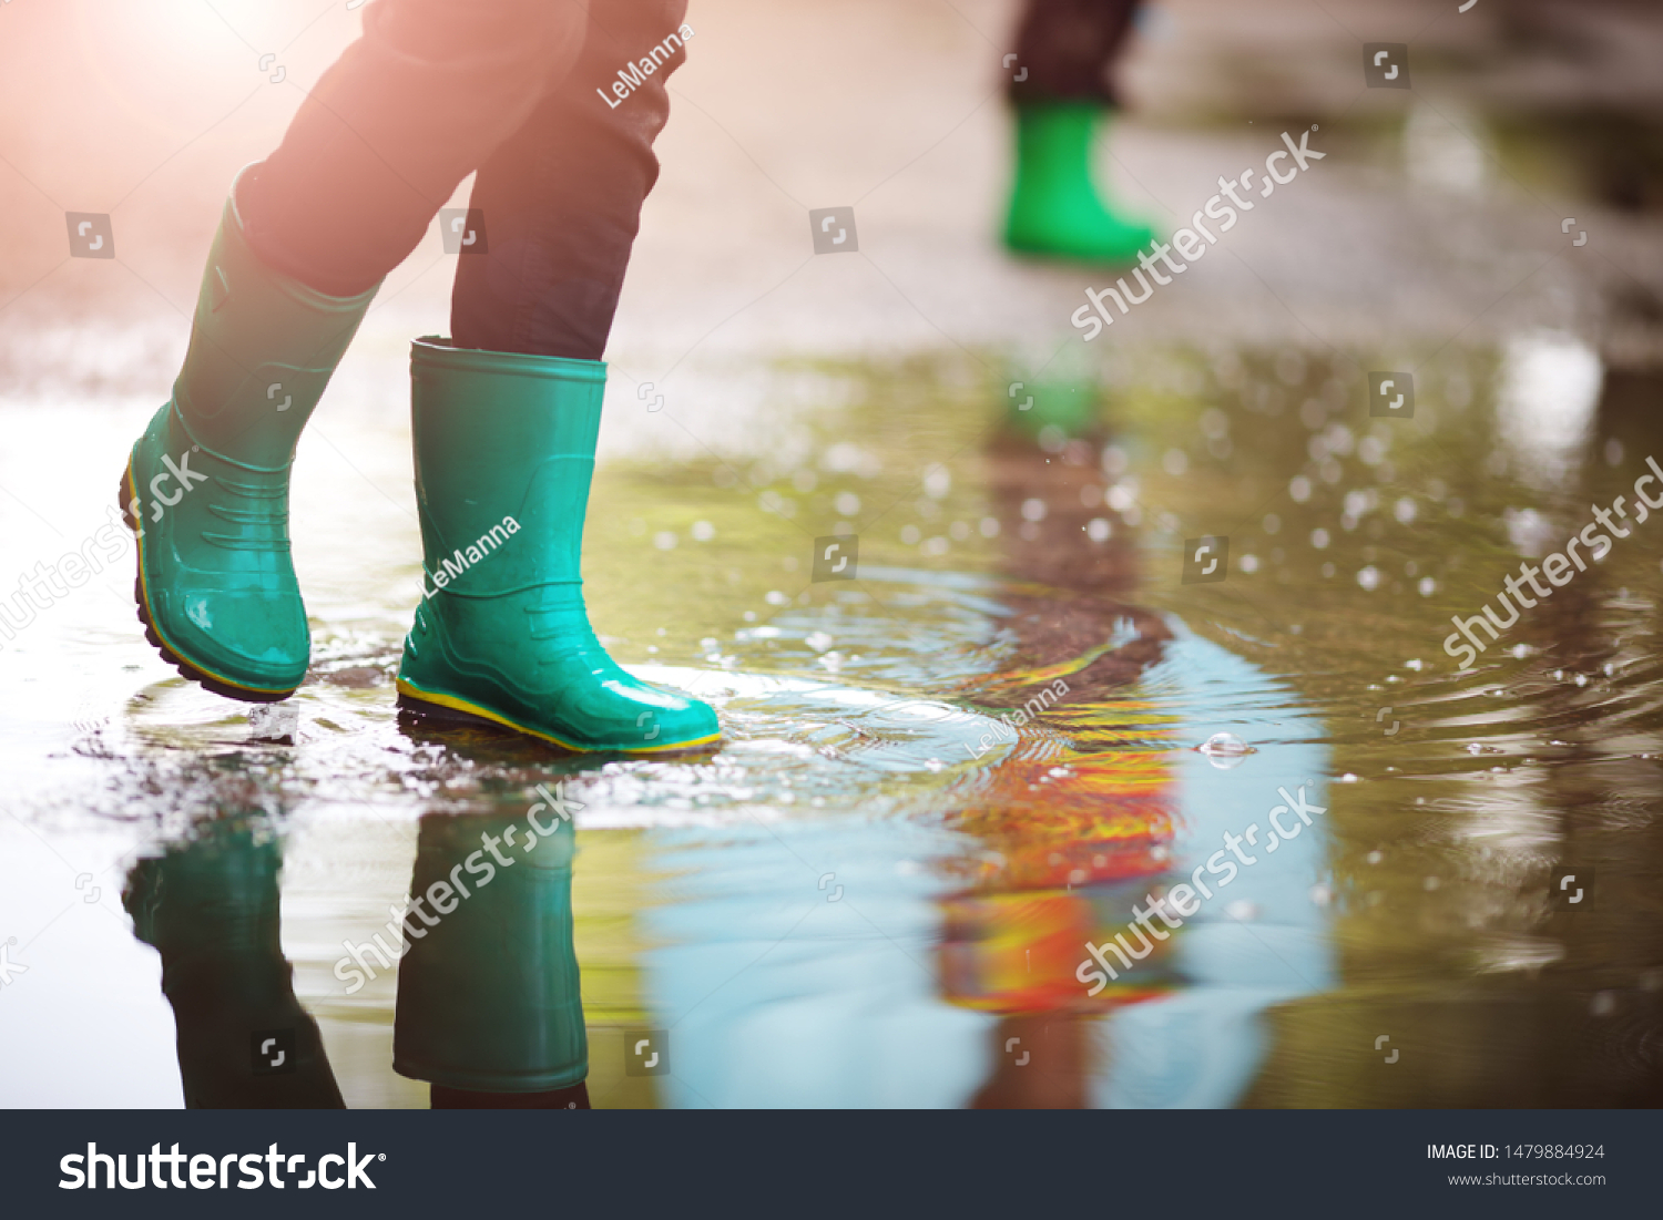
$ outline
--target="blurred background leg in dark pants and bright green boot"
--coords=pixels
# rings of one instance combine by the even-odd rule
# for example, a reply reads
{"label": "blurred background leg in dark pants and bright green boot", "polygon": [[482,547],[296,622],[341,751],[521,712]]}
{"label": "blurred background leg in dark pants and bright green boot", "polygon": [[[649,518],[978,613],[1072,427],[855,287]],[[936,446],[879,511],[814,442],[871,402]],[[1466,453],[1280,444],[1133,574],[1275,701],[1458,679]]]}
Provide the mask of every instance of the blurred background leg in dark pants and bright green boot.
{"label": "blurred background leg in dark pants and bright green boot", "polygon": [[1028,0],[1013,81],[1016,175],[1004,241],[1011,249],[1129,263],[1154,234],[1119,216],[1098,188],[1093,151],[1118,101],[1111,65],[1139,0]]}

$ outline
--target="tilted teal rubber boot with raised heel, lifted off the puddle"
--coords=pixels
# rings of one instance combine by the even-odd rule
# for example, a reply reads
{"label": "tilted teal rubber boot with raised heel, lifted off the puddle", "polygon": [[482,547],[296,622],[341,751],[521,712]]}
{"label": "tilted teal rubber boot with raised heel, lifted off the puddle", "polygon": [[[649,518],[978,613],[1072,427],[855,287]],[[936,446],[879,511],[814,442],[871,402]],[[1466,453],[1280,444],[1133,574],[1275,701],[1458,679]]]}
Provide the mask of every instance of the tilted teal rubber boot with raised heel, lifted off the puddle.
{"label": "tilted teal rubber boot with raised heel, lifted off the puddle", "polygon": [[173,399],[133,445],[121,512],[138,535],[150,642],[210,690],[286,698],[311,632],[289,560],[289,464],[376,289],[333,298],[266,268],[226,199]]}

